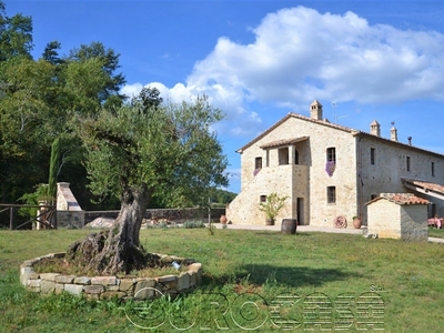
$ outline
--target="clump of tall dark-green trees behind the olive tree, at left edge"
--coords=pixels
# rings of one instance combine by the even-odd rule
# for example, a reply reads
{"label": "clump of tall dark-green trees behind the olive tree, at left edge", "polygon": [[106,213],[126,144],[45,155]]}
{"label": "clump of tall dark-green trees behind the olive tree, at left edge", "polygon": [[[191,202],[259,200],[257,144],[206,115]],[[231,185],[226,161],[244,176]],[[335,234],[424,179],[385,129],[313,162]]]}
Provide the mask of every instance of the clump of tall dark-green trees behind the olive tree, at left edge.
{"label": "clump of tall dark-green trees behind the olive tree, at left edge", "polygon": [[[93,115],[103,104],[120,108],[124,77],[117,73],[119,54],[101,43],[81,46],[60,57],[51,41],[33,60],[32,20],[8,17],[0,0],[0,201],[16,202],[48,181],[51,144],[62,140],[60,178],[71,182],[79,201],[90,203],[82,149],[71,120]],[[71,181],[72,180],[72,181]]]}

